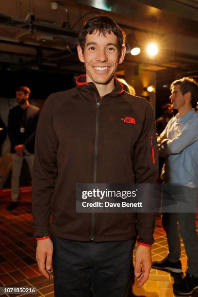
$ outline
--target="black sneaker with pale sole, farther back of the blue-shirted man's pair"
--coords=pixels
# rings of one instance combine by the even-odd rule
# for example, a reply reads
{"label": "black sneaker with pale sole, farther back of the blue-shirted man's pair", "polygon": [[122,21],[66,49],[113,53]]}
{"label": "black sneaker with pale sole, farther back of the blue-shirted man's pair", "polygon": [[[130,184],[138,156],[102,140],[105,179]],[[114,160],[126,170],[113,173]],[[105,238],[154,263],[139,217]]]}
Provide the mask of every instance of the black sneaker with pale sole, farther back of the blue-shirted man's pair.
{"label": "black sneaker with pale sole, farther back of the blue-shirted man's pair", "polygon": [[181,261],[179,260],[176,263],[170,262],[167,257],[161,261],[154,261],[152,263],[152,268],[164,270],[164,271],[170,271],[174,273],[181,273]]}

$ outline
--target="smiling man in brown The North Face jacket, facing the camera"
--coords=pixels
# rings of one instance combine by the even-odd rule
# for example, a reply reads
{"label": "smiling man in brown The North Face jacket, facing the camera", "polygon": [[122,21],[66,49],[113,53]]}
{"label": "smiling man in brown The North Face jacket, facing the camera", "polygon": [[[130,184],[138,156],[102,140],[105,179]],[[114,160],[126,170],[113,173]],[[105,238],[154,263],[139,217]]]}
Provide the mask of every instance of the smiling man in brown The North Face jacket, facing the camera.
{"label": "smiling man in brown The North Face jacket, facing the camera", "polygon": [[[49,278],[53,253],[58,297],[88,297],[90,288],[94,297],[128,296],[134,214],[76,213],[76,183],[157,179],[151,106],[123,92],[114,78],[124,43],[123,31],[108,16],[86,22],[78,45],[86,75],[75,88],[49,96],[39,119],[33,169],[36,258]],[[151,267],[154,214],[137,214],[136,226],[135,275],[142,286]]]}

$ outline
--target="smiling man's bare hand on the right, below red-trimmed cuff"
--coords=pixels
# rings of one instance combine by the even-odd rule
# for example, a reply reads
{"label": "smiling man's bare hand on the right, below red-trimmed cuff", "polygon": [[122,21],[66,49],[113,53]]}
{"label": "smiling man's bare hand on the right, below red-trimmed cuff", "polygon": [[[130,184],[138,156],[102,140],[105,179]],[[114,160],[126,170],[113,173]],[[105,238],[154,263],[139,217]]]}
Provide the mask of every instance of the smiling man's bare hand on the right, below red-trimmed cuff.
{"label": "smiling man's bare hand on the right, below red-trimmed cuff", "polygon": [[135,252],[135,276],[137,287],[141,287],[147,280],[152,265],[151,247],[139,245]]}

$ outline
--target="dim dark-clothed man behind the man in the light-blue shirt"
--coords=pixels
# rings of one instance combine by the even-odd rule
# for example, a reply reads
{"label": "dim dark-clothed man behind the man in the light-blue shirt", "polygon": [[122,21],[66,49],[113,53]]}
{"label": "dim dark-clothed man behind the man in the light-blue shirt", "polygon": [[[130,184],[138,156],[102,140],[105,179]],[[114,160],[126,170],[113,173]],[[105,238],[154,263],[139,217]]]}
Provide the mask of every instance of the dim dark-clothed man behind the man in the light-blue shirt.
{"label": "dim dark-clothed man behind the man in the light-blue shirt", "polygon": [[160,135],[169,122],[169,120],[173,117],[173,109],[170,103],[166,103],[162,106],[163,115],[156,120],[156,132]]}

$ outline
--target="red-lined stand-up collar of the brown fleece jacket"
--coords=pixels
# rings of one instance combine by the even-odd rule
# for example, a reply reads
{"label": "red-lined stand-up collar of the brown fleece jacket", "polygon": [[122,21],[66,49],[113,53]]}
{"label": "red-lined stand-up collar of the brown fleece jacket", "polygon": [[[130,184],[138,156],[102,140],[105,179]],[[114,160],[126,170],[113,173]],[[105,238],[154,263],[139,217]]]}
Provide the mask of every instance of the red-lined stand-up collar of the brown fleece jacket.
{"label": "red-lined stand-up collar of the brown fleece jacket", "polygon": [[[108,94],[110,97],[116,97],[123,94],[122,83],[115,78],[114,84],[115,84],[114,90],[110,94]],[[92,92],[93,90],[98,92],[94,82],[86,82],[86,74],[82,74],[76,79],[76,86],[79,90],[84,92],[90,92],[90,90],[92,90]]]}

